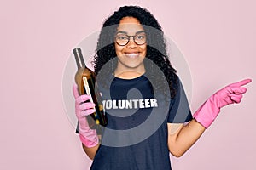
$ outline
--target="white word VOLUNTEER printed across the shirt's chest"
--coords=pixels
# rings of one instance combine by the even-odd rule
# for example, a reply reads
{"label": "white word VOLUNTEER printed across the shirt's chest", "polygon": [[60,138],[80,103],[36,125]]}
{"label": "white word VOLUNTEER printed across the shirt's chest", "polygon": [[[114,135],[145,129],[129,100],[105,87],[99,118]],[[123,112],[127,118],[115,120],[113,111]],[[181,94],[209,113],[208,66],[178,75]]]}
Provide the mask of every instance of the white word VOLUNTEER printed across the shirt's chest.
{"label": "white word VOLUNTEER printed across the shirt's chest", "polygon": [[102,104],[105,110],[158,107],[156,99],[108,99],[103,100]]}

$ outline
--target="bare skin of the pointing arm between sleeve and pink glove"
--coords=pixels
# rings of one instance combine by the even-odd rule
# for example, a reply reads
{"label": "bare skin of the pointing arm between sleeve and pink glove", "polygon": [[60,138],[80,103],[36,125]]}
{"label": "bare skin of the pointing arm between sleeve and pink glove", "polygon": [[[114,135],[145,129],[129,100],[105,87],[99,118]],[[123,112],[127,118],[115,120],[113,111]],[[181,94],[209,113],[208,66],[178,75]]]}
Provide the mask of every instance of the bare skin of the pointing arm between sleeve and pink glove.
{"label": "bare skin of the pointing arm between sleeve and pink glove", "polygon": [[[195,144],[197,139],[201,137],[205,129],[205,127],[193,119],[187,125],[177,129],[178,133],[169,134],[168,146],[172,155],[177,157],[183,156],[183,154]],[[172,131],[170,130],[169,132]]]}

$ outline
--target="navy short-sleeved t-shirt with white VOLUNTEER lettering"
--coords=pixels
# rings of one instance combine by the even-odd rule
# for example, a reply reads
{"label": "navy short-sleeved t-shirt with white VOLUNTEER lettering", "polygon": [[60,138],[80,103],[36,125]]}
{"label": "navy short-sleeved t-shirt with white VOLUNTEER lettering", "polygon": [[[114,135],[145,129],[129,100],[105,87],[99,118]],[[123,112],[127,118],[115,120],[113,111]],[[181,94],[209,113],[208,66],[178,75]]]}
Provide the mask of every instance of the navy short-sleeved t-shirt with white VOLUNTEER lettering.
{"label": "navy short-sleeved t-shirt with white VOLUNTEER lettering", "polygon": [[130,80],[114,77],[108,89],[100,89],[108,125],[90,169],[172,169],[167,122],[192,119],[181,82],[173,99],[155,94],[144,75]]}

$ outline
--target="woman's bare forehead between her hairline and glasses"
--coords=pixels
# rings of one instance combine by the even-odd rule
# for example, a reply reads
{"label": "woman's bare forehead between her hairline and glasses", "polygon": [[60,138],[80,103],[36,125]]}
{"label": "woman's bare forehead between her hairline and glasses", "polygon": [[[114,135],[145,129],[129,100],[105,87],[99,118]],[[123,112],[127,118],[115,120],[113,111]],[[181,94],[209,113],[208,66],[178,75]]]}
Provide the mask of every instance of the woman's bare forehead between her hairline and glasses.
{"label": "woman's bare forehead between her hairline and glasses", "polygon": [[143,26],[140,24],[140,21],[134,17],[124,17],[119,22],[117,31],[125,31],[127,34],[135,34],[137,31],[143,31]]}

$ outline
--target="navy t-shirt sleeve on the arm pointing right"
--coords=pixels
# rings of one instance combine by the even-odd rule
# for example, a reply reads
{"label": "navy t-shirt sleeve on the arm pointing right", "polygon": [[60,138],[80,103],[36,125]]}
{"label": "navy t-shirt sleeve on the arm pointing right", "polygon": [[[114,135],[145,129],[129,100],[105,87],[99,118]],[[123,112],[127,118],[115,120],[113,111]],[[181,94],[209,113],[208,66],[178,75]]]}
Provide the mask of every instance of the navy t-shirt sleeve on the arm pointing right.
{"label": "navy t-shirt sleeve on the arm pointing right", "polygon": [[184,92],[182,82],[178,79],[176,95],[171,99],[167,122],[183,123],[192,120],[189,102]]}

